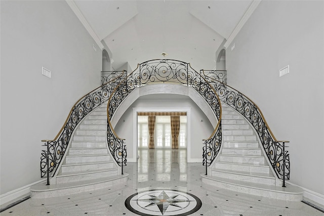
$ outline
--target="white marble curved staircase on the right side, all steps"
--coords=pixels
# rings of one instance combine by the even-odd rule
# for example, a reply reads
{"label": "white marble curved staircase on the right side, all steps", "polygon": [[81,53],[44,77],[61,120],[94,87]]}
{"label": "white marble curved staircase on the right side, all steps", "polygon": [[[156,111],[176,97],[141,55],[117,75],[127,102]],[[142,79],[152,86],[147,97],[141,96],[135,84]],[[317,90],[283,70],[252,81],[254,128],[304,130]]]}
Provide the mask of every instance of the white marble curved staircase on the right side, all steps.
{"label": "white marble curved staircase on the right side, all steps", "polygon": [[303,191],[281,181],[269,166],[254,129],[239,113],[222,103],[222,149],[203,183],[231,191],[300,201]]}

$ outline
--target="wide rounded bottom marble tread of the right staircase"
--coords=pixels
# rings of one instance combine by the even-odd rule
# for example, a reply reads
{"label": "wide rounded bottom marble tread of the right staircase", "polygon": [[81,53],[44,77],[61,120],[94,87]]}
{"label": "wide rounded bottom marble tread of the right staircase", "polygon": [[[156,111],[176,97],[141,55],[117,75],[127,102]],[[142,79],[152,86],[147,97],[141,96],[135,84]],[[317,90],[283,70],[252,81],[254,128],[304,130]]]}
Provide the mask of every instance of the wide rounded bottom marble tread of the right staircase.
{"label": "wide rounded bottom marble tread of the right staircase", "polygon": [[235,185],[235,186],[243,186],[246,188],[253,188],[253,189],[259,189],[259,190],[265,190],[265,191],[273,191],[278,193],[288,193],[288,194],[296,194],[296,195],[302,195],[304,191],[296,186],[292,186],[289,184],[286,184],[286,188],[281,186],[272,186],[272,185],[263,185],[258,183],[249,183],[249,182],[242,182],[237,181],[234,179],[228,179],[228,178],[221,178],[217,176],[210,176],[205,174],[200,174],[202,178],[208,178],[217,182],[222,182],[225,184]]}

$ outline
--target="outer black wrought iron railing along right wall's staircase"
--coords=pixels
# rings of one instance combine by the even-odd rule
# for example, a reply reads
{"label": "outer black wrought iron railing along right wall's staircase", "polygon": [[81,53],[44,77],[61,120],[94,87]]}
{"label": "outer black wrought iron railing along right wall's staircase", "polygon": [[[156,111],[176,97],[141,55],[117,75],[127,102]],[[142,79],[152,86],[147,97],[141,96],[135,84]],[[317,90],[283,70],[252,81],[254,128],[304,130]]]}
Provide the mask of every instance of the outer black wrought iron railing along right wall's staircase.
{"label": "outer black wrought iron railing along right wall's staircase", "polygon": [[290,160],[289,153],[285,150],[285,142],[289,141],[278,141],[275,138],[261,110],[249,97],[209,77],[209,74],[205,74],[204,71],[202,75],[214,87],[221,101],[233,107],[253,125],[276,175],[284,181],[289,180]]}

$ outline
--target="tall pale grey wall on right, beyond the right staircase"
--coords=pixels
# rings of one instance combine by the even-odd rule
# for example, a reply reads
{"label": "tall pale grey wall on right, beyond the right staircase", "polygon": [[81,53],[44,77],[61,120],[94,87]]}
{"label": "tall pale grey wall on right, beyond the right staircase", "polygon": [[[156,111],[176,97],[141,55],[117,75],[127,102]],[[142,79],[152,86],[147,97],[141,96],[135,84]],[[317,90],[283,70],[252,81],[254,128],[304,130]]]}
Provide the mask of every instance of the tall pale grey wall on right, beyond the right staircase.
{"label": "tall pale grey wall on right, beyond the right staircase", "polygon": [[[290,140],[290,182],[324,198],[324,2],[262,1],[226,51],[227,82]],[[279,69],[290,74],[279,78]],[[323,199],[324,200],[324,199]]]}

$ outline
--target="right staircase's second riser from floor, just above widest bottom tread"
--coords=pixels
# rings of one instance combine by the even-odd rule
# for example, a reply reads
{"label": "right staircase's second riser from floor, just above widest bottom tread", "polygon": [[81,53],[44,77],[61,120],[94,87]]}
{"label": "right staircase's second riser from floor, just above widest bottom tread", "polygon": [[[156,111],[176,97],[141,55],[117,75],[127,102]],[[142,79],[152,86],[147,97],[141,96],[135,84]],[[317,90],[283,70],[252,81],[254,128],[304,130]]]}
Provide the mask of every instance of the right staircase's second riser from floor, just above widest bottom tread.
{"label": "right staircase's second riser from floor, just above widest bottom tread", "polygon": [[235,174],[235,173],[220,172],[217,170],[212,170],[212,176],[218,176],[221,178],[229,178],[232,180],[237,180],[237,181],[242,181],[242,182],[250,182],[250,183],[275,186],[274,178],[264,178],[264,177],[258,177],[258,176],[240,175],[240,174]]}

